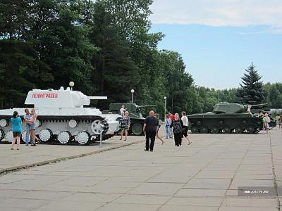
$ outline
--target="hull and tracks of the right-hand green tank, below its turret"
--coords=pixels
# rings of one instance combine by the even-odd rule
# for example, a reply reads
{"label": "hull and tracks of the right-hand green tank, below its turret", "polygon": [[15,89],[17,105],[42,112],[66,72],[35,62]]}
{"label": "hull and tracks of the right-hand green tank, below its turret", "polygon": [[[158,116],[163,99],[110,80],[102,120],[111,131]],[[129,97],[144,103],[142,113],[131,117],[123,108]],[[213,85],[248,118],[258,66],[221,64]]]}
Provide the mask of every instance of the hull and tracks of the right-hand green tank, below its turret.
{"label": "hull and tracks of the right-hand green tank, below its turret", "polygon": [[192,133],[255,134],[262,129],[262,118],[243,114],[198,114],[188,116]]}

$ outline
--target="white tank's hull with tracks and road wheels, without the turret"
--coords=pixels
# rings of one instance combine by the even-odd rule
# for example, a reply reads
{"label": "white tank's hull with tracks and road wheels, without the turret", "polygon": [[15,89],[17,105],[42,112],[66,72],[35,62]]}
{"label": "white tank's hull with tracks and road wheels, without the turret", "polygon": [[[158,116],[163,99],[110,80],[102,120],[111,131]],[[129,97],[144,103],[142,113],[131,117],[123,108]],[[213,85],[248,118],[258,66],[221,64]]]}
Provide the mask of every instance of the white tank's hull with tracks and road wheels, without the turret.
{"label": "white tank's hull with tracks and road wheels, without the turret", "polygon": [[[0,141],[11,142],[10,120],[15,110],[23,120],[24,108],[0,110]],[[100,134],[103,140],[109,139],[119,130],[117,115],[104,117],[96,108],[36,108],[35,110],[38,115],[35,134],[43,143],[73,142],[85,145],[98,141]],[[22,128],[22,139],[25,141],[24,121]]]}

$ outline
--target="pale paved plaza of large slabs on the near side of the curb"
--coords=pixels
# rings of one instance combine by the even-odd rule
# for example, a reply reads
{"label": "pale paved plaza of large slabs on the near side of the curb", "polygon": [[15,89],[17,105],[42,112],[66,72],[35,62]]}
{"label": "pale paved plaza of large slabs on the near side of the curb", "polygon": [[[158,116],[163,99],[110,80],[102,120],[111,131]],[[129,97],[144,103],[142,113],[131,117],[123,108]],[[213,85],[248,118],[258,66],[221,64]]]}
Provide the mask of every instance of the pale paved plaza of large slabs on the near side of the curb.
{"label": "pale paved plaza of large slabs on the near side of the curb", "polygon": [[0,177],[0,210],[280,210],[276,196],[238,186],[282,183],[281,131],[193,134],[192,144],[144,143]]}

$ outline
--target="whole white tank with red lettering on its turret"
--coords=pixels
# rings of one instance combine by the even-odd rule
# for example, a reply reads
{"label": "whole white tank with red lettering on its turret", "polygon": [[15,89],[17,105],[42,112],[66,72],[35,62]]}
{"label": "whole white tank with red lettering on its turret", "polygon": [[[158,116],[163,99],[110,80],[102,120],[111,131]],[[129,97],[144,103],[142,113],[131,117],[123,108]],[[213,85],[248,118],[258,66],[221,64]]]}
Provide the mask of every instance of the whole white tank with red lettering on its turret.
{"label": "whole white tank with red lettering on its turret", "polygon": [[[81,91],[72,91],[69,87],[59,90],[33,89],[27,94],[26,105],[33,105],[37,113],[35,134],[41,141],[56,139],[66,144],[77,141],[85,145],[91,140],[113,136],[120,129],[118,120],[121,115],[102,115],[97,108],[89,106],[91,99],[106,99],[106,97],[86,96]],[[10,123],[14,111],[18,111],[23,119],[25,108],[0,110],[0,141],[11,142],[13,139]],[[25,141],[25,123],[22,124],[22,139]]]}

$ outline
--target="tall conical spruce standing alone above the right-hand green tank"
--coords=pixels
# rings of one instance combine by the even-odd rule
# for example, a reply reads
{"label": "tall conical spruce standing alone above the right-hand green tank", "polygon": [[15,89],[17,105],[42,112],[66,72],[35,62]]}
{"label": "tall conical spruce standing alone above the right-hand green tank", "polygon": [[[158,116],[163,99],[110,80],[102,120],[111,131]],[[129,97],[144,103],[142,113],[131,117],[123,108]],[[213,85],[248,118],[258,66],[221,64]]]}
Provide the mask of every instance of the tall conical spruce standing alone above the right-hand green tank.
{"label": "tall conical spruce standing alone above the right-hand green tank", "polygon": [[248,105],[263,103],[264,91],[262,77],[255,70],[255,65],[250,65],[242,77],[242,84],[237,91],[238,102]]}

